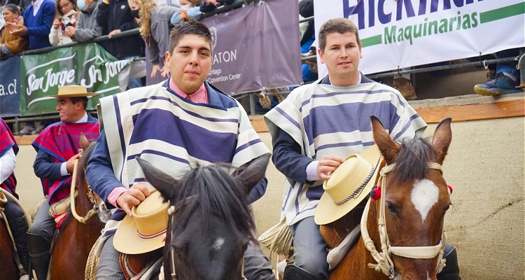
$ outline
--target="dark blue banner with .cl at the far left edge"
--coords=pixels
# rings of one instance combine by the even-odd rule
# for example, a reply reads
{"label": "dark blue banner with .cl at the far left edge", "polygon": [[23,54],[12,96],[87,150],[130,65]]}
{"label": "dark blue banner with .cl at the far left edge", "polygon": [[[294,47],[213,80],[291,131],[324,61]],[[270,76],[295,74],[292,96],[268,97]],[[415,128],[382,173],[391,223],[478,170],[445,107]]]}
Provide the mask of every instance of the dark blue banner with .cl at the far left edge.
{"label": "dark blue banner with .cl at the far left edge", "polygon": [[0,61],[0,117],[20,115],[20,57]]}

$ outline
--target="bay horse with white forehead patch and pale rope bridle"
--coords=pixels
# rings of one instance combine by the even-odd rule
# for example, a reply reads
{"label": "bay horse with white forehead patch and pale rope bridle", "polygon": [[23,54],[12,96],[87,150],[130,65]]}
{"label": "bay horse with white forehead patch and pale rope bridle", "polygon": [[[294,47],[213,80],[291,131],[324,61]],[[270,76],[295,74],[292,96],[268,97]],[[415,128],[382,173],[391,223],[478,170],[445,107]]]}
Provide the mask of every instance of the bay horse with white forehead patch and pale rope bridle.
{"label": "bay horse with white forehead patch and pale rope bridle", "polygon": [[[384,157],[380,165],[380,198],[366,202],[361,236],[329,279],[437,279],[444,262],[444,215],[450,190],[441,165],[451,143],[451,118],[437,125],[432,141],[413,139],[395,144],[381,122],[371,116],[374,141]],[[388,175],[388,176],[387,176]],[[364,203],[363,203],[364,204]],[[357,215],[358,217],[359,215]],[[379,218],[384,223],[379,223]],[[321,226],[330,248],[339,245],[354,225],[350,212]],[[381,231],[381,234],[380,234]],[[379,264],[378,264],[379,262]]]}

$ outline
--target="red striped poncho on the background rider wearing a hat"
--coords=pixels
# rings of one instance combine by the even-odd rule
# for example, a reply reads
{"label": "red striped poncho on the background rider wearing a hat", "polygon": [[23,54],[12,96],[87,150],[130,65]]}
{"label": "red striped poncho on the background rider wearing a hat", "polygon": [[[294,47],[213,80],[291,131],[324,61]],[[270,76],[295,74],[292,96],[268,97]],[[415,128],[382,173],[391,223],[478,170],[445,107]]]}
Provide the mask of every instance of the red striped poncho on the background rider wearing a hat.
{"label": "red striped poncho on the background rider wearing a hat", "polygon": [[[80,149],[80,134],[85,134],[88,140],[99,138],[99,122],[88,118],[86,123],[53,123],[36,137],[31,145],[38,151],[43,150],[52,156],[54,162],[62,163],[69,160]],[[41,178],[43,193],[48,195],[49,204],[66,198],[70,193],[72,176],[64,176],[62,180]]]}

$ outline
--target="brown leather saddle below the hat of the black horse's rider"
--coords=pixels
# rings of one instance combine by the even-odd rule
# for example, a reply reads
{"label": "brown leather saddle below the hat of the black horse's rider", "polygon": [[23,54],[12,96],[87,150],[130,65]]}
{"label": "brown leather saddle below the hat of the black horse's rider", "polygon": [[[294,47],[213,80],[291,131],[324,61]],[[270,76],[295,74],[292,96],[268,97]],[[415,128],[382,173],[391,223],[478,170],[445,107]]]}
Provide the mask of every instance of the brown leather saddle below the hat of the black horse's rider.
{"label": "brown leather saddle below the hat of the black horse's rider", "polygon": [[120,253],[120,269],[126,280],[139,279],[139,276],[150,269],[160,258],[162,258],[162,248],[137,255]]}

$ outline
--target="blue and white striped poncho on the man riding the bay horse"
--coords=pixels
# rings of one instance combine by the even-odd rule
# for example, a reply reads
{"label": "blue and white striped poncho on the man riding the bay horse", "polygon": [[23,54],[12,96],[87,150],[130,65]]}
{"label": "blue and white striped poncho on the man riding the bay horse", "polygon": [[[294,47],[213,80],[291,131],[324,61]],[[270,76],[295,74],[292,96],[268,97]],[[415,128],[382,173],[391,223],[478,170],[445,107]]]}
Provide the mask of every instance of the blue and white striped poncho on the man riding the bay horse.
{"label": "blue and white striped poncho on the man riding the bay horse", "polygon": [[[426,123],[392,87],[365,78],[359,85],[337,87],[321,80],[293,90],[265,115],[276,138],[277,127],[301,146],[302,155],[319,160],[323,155],[345,158],[374,144],[370,115],[381,120],[388,134],[402,139],[421,137]],[[314,216],[323,195],[323,181],[313,184],[286,180],[281,219],[288,225]]]}

